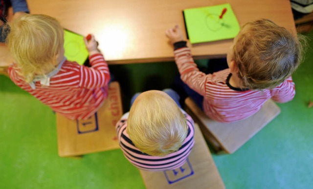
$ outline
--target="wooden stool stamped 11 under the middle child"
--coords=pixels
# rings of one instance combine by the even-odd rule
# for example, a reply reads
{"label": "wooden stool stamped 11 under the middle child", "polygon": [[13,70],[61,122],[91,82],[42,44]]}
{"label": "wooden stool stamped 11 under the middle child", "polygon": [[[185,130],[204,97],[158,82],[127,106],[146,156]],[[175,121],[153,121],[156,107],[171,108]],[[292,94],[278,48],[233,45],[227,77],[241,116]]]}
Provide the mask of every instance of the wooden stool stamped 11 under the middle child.
{"label": "wooden stool stamped 11 under the middle child", "polygon": [[180,168],[168,171],[140,170],[147,189],[224,189],[224,183],[211,153],[195,124],[195,145],[188,161]]}

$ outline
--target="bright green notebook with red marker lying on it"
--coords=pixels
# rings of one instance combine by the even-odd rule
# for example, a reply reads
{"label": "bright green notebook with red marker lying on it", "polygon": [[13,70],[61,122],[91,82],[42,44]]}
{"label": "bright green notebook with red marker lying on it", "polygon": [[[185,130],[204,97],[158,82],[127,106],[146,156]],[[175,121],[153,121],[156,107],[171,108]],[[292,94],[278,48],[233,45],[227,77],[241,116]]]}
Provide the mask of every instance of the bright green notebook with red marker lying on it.
{"label": "bright green notebook with red marker lying on it", "polygon": [[[220,18],[223,10],[226,12]],[[240,26],[230,4],[220,4],[183,11],[187,37],[191,43],[213,42],[234,38]]]}

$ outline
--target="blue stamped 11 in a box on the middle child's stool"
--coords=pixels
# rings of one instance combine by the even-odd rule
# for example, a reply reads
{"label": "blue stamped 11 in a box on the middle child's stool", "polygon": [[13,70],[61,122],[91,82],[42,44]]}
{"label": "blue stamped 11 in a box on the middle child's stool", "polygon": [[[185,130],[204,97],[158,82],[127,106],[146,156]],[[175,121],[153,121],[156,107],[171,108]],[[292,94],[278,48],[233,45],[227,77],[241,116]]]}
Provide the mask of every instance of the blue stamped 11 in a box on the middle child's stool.
{"label": "blue stamped 11 in a box on the middle child's stool", "polygon": [[176,183],[194,174],[194,170],[192,169],[188,158],[186,163],[180,168],[174,170],[166,170],[163,172],[168,184]]}

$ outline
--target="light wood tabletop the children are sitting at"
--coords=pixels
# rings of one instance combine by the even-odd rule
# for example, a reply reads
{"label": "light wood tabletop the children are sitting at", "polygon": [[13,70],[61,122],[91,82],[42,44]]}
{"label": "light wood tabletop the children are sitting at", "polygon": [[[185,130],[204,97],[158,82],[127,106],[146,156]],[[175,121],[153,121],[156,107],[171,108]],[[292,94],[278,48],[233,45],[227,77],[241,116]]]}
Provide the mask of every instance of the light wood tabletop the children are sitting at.
{"label": "light wood tabletop the children are sitting at", "polygon": [[[289,0],[27,0],[31,14],[58,19],[64,28],[93,33],[108,63],[173,61],[165,31],[179,24],[182,10],[230,3],[239,24],[268,18],[296,32]],[[195,59],[224,57],[232,40],[191,47]]]}

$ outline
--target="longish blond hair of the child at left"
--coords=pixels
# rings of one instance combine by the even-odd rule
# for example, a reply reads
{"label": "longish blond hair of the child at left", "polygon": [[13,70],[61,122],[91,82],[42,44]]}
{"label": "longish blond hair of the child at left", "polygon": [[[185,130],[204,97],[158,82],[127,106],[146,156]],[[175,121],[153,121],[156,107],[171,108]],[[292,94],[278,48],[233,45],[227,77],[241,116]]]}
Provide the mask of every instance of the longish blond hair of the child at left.
{"label": "longish blond hair of the child at left", "polygon": [[46,15],[25,14],[9,23],[7,44],[22,76],[31,82],[35,75],[45,75],[56,65],[56,56],[63,45],[63,28]]}

